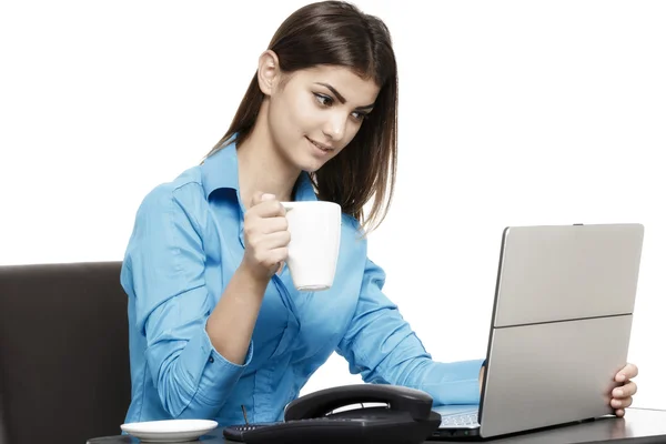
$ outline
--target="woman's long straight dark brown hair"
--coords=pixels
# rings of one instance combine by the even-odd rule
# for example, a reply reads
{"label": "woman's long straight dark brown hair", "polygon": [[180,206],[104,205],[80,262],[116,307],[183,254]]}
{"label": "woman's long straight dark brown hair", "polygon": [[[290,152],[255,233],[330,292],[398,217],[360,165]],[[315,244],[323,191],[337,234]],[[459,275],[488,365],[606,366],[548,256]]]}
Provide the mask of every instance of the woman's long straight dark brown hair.
{"label": "woman's long straight dark brown hair", "polygon": [[[393,195],[397,160],[397,69],[391,34],[382,20],[344,1],[307,4],[278,29],[269,49],[280,70],[342,65],[381,87],[374,109],[359,133],[311,180],[320,199],[336,202],[370,231],[384,220]],[[222,140],[208,154],[248,138],[264,100],[254,74]],[[363,208],[372,202],[365,216]]]}

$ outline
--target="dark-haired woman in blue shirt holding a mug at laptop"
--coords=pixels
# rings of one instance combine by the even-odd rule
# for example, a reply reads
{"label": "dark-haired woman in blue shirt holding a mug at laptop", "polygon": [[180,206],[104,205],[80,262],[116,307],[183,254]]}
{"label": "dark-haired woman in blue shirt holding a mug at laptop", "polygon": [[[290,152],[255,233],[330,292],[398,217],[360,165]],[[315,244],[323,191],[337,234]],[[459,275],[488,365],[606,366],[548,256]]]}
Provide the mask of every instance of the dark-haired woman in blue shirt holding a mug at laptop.
{"label": "dark-haired woman in blue shirt holding a mug at laptop", "polygon": [[[128,422],[229,425],[244,421],[243,410],[251,422],[280,420],[334,351],[366,382],[421,389],[436,404],[478,402],[482,362],[431,360],[382,293],[383,271],[359,235],[391,202],[396,79],[381,20],[344,2],[306,6],[261,54],[205,161],[149,193],[121,275]],[[324,293],[299,293],[281,270],[290,236],[280,201],[315,199],[344,213],[340,278]],[[618,415],[636,391],[635,366],[620,373]]]}

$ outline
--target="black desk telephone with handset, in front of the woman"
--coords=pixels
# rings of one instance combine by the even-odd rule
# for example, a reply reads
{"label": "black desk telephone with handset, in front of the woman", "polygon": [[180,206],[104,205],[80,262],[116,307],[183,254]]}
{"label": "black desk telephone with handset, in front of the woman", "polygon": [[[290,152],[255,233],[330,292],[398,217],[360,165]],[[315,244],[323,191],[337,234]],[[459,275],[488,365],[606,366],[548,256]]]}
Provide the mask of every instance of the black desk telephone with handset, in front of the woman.
{"label": "black desk telephone with handset, in front of the woman", "polygon": [[[363,407],[364,403],[385,406]],[[350,405],[360,408],[334,412]],[[425,392],[380,384],[325,389],[299,397],[284,411],[284,422],[234,425],[228,441],[248,444],[422,443],[440,426],[433,398]]]}

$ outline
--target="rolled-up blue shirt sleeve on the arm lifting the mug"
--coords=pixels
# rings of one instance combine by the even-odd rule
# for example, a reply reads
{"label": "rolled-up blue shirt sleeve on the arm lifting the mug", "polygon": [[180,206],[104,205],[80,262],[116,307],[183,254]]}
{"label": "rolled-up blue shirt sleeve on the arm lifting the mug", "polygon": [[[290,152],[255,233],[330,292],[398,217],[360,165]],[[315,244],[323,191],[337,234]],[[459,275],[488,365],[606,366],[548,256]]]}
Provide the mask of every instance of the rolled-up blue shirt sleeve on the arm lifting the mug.
{"label": "rolled-up blue shirt sleeve on the arm lifting the mug", "polygon": [[[145,359],[162,406],[172,417],[212,417],[244,367],[212,346],[205,324],[214,301],[205,285],[200,229],[183,193],[153,190],[142,202],[125,256],[123,282],[135,297],[130,319],[145,336]],[[151,382],[145,381],[147,384]]]}

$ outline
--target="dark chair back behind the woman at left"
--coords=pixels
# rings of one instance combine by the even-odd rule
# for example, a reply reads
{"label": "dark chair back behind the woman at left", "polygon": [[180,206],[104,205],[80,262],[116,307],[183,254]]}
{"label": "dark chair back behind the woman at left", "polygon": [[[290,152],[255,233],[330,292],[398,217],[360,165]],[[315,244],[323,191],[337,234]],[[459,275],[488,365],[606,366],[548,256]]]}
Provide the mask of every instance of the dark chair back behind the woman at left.
{"label": "dark chair back behind the woman at left", "polygon": [[117,435],[130,403],[120,262],[0,266],[0,441]]}

